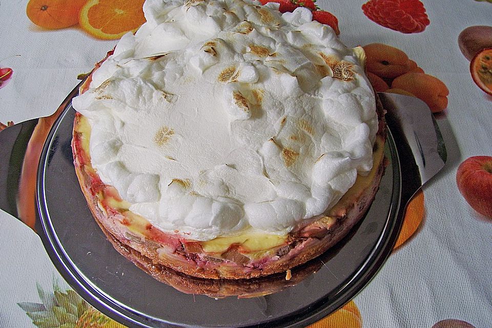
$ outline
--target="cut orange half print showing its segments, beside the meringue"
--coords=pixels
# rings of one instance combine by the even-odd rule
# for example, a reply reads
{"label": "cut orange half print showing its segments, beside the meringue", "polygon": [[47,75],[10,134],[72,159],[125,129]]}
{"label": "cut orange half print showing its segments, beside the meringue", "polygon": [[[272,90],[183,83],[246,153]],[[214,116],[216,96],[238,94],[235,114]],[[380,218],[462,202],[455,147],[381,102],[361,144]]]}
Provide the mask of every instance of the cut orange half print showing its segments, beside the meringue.
{"label": "cut orange half print showing its segments, beside the meringue", "polygon": [[144,0],[89,0],[80,10],[79,24],[100,39],[118,39],[145,23]]}

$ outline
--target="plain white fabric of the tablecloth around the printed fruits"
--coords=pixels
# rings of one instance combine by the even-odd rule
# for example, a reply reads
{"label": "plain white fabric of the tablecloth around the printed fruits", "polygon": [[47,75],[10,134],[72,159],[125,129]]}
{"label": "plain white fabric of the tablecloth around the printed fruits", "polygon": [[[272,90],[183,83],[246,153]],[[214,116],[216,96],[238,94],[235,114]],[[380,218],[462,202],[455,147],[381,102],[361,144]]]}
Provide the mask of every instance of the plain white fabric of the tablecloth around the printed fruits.
{"label": "plain white fabric of the tablecloth around the printed fruits", "polygon": [[[355,298],[364,327],[432,327],[461,319],[492,326],[492,220],[471,209],[456,186],[461,161],[492,155],[492,97],[471,80],[458,34],[470,25],[492,25],[492,4],[473,0],[423,0],[430,26],[402,34],[364,16],[362,0],[319,0],[336,14],[348,46],[379,42],[402,49],[427,74],[449,88],[438,118],[448,152],[443,171],[424,188],[426,218],[418,234],[394,252]],[[0,4],[0,67],[14,75],[0,90],[0,121],[50,115],[115,41],[94,39],[78,27],[46,31],[25,13],[27,0]],[[18,56],[17,56],[18,55]],[[37,235],[0,211],[0,326],[31,327],[17,302],[39,302],[36,282],[49,289],[59,275]]]}

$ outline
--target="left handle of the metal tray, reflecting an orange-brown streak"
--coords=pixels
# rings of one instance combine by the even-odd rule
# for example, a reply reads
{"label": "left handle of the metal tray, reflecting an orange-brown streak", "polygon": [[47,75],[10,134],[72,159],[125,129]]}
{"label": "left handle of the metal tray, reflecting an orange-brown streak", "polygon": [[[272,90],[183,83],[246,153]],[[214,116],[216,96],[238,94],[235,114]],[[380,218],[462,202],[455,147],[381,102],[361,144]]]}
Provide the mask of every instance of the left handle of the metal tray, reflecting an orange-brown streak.
{"label": "left handle of the metal tray, reflecting an orange-brown streak", "polygon": [[81,81],[50,116],[15,124],[0,132],[0,209],[36,232],[36,178],[48,133],[77,95]]}

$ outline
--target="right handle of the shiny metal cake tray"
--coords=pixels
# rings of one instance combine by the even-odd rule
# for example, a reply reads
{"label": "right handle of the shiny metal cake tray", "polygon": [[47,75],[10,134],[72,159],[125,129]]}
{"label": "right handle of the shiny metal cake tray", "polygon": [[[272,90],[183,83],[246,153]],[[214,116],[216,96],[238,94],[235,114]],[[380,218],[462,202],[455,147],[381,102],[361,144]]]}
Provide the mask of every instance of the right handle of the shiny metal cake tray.
{"label": "right handle of the shiny metal cake tray", "polygon": [[404,209],[424,183],[444,167],[446,147],[436,120],[422,100],[394,93],[378,95],[398,151]]}

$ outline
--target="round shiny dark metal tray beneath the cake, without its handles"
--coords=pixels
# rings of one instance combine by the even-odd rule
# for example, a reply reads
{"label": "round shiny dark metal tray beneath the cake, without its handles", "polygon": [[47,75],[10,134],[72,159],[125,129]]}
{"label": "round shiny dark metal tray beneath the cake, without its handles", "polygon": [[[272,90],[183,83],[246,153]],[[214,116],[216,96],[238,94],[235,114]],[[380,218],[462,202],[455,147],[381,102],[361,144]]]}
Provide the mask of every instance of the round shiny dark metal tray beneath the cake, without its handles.
{"label": "round shiny dark metal tray beneath the cake, without its handles", "polygon": [[74,115],[68,105],[40,157],[36,200],[43,228],[38,233],[72,288],[129,327],[303,327],[352,299],[392,251],[403,210],[398,153],[388,133],[389,165],[370,210],[341,242],[311,261],[319,264],[315,273],[280,292],[252,298],[179,292],[116,252],[97,226],[73,166]]}

